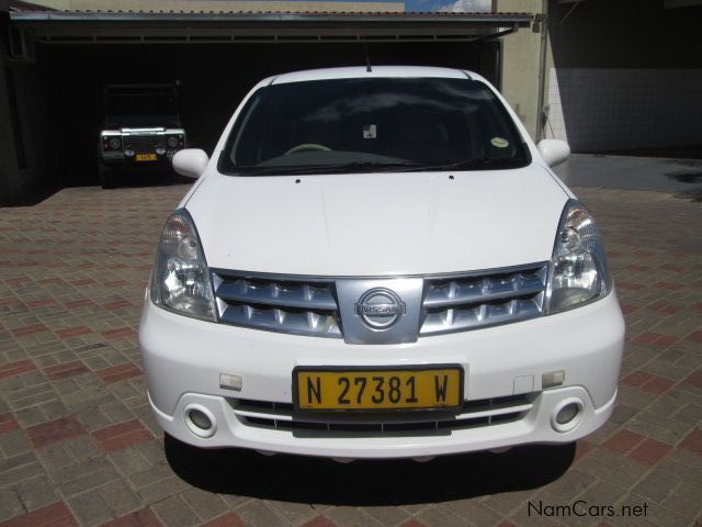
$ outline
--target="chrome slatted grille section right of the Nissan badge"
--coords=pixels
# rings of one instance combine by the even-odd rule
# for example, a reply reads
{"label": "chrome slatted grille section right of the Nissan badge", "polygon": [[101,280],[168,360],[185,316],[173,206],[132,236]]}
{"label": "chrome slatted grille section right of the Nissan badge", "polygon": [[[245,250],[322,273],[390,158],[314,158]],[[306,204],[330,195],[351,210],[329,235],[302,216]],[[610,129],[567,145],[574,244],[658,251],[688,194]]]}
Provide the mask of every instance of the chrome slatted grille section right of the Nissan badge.
{"label": "chrome slatted grille section right of the Nissan badge", "polygon": [[427,277],[420,336],[524,321],[543,313],[546,264],[489,274]]}

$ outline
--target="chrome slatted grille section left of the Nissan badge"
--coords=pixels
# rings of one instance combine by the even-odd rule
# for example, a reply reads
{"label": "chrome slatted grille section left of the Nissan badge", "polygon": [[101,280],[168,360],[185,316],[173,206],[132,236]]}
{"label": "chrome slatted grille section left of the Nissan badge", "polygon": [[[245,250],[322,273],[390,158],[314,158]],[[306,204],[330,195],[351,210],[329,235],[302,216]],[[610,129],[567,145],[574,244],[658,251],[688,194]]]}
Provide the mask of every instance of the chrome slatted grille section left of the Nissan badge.
{"label": "chrome slatted grille section left of the Nissan badge", "polygon": [[333,281],[213,272],[219,319],[272,332],[341,338]]}

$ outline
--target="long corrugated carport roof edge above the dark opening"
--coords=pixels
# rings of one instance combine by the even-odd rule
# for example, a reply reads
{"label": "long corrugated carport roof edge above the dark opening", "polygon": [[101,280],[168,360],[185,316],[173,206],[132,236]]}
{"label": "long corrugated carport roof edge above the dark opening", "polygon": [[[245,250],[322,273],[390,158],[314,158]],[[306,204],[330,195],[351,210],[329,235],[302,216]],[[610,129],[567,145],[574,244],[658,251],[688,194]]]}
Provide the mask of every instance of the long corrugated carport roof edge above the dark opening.
{"label": "long corrugated carport roof edge above the dark opening", "polygon": [[529,13],[10,11],[45,44],[476,42],[529,27]]}

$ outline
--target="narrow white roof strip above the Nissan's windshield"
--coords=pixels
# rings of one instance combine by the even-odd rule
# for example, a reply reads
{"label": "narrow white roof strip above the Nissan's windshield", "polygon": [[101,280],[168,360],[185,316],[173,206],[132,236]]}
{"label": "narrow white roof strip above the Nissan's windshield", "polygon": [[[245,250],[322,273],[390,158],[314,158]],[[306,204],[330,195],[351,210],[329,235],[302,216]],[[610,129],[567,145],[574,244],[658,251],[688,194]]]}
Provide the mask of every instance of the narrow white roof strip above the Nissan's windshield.
{"label": "narrow white roof strip above the Nissan's windshield", "polygon": [[358,78],[443,78],[466,79],[475,78],[472,71],[431,66],[351,66],[344,68],[308,69],[272,77],[271,85],[288,82],[304,82],[307,80],[358,79]]}

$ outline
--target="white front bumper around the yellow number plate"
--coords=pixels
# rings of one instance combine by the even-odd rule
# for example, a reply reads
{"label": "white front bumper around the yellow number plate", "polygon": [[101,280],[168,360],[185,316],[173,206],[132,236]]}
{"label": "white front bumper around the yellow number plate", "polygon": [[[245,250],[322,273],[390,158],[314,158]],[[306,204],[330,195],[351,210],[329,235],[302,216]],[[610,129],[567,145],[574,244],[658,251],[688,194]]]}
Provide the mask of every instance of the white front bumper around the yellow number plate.
{"label": "white front bumper around the yellow number plate", "polygon": [[[570,442],[595,431],[614,407],[624,321],[612,292],[589,305],[526,322],[412,344],[348,345],[197,321],[165,311],[147,295],[139,341],[158,423],[184,442],[350,459],[421,458]],[[404,422],[393,430],[382,425],[355,430],[350,414],[332,416],[326,427],[315,417],[318,423],[307,426],[310,418],[291,407],[292,372],[298,366],[434,363],[461,365],[464,399],[480,404],[435,417],[435,427],[424,413],[416,419],[421,422],[416,430],[408,414],[386,414],[389,422]],[[542,375],[559,370],[565,372],[563,384],[543,389]],[[220,388],[223,373],[239,375],[241,389]],[[580,412],[563,427],[555,415],[568,402]],[[206,434],[186,417],[193,408],[213,421]]]}

